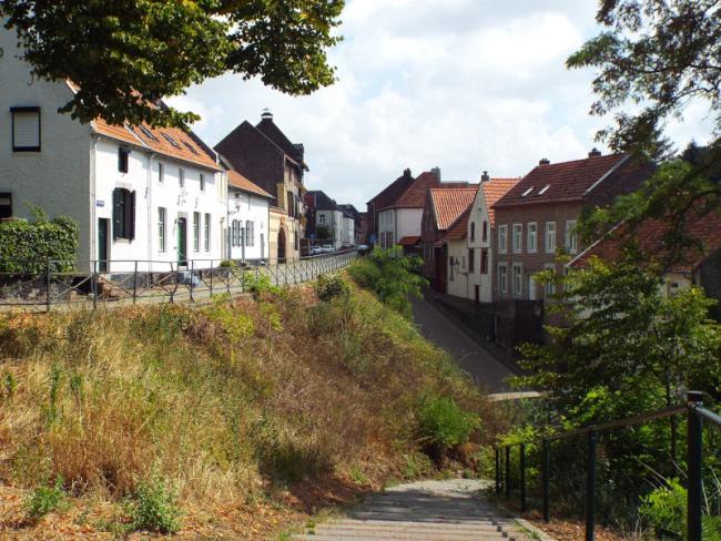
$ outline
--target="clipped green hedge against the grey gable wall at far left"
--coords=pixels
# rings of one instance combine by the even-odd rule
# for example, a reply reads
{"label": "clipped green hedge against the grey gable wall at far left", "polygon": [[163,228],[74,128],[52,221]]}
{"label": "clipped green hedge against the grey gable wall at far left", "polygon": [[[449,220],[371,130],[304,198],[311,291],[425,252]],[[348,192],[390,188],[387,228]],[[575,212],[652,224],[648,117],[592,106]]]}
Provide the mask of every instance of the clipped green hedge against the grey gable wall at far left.
{"label": "clipped green hedge against the grey gable wall at far left", "polygon": [[49,221],[35,212],[34,222],[0,222],[0,273],[41,274],[48,261],[54,272],[72,270],[78,244],[78,224],[68,216]]}

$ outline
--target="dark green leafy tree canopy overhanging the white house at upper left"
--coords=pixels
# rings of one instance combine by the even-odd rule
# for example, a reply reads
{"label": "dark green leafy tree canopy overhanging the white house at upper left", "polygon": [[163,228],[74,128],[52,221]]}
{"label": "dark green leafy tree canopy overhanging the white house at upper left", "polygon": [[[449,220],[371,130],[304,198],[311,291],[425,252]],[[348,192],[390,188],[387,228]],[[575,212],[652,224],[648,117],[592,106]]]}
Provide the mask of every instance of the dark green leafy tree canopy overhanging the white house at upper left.
{"label": "dark green leafy tree canopy overhanging the white house at upper left", "polygon": [[73,81],[81,122],[184,126],[160,103],[226,71],[291,94],[332,84],[344,0],[0,0],[33,74]]}

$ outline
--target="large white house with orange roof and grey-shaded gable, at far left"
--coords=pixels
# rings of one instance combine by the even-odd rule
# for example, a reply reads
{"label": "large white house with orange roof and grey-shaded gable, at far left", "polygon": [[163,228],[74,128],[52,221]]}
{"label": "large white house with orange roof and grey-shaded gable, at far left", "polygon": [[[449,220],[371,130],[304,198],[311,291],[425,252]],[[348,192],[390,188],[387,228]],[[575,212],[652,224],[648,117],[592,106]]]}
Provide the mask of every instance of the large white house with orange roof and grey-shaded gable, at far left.
{"label": "large white house with orange roof and grey-shaded gable, at far left", "polygon": [[16,41],[0,31],[0,194],[9,213],[30,217],[30,204],[74,218],[80,269],[129,272],[138,261],[139,270],[160,272],[224,258],[227,187],[212,151],[179,129],[59,114],[78,89],[33,78]]}

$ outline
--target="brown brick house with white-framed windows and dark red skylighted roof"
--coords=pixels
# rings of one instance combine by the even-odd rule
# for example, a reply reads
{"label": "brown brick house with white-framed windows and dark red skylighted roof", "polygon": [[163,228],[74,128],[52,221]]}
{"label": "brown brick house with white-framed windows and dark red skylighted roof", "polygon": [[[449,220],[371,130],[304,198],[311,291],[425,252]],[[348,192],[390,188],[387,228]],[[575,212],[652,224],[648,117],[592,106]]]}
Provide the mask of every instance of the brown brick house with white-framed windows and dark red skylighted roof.
{"label": "brown brick house with white-framed windows and dark red skylighted roof", "polygon": [[628,154],[601,155],[551,164],[541,160],[525,177],[492,205],[494,299],[538,300],[552,294],[540,290],[535,275],[545,269],[562,270],[558,252],[571,257],[585,249],[576,233],[583,208],[607,206],[622,194],[638,190],[654,171],[650,162]]}

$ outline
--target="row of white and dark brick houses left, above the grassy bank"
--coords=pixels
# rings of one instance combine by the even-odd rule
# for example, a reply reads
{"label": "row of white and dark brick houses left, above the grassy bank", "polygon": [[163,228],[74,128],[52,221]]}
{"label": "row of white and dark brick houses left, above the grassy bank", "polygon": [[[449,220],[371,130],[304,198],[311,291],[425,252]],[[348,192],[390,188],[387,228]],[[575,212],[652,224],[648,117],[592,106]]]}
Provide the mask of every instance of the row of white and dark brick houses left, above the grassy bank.
{"label": "row of white and dark brick houses left, above the grassy bank", "polygon": [[[31,218],[32,207],[74,218],[81,270],[283,263],[307,251],[305,150],[270,111],[214,147],[191,130],[82,124],[58,113],[80,89],[34,78],[16,41],[0,31],[0,218]],[[352,211],[341,211],[337,247],[356,244]]]}

